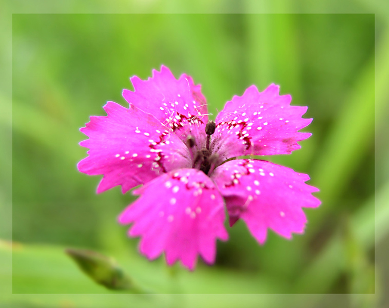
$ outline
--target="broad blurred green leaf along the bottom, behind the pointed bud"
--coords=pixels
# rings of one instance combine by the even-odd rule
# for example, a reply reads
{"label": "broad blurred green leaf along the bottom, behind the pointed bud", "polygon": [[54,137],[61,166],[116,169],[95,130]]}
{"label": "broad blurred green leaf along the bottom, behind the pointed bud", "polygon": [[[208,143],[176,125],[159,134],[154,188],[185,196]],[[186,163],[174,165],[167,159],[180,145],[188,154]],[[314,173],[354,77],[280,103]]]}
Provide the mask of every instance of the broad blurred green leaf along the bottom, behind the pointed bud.
{"label": "broad blurred green leaf along the bottom, behind the pointed bud", "polygon": [[[20,244],[12,251],[9,245],[7,247],[0,247],[0,253],[13,254],[13,293],[134,293],[131,290],[106,289],[92,283],[72,264],[62,247]],[[131,279],[142,286],[140,291],[143,293],[266,294],[287,290],[283,279],[277,277],[240,273],[203,264],[198,264],[194,272],[188,272],[176,264],[175,275],[170,275],[163,258],[150,262],[138,253],[115,257],[125,272],[131,273]]]}

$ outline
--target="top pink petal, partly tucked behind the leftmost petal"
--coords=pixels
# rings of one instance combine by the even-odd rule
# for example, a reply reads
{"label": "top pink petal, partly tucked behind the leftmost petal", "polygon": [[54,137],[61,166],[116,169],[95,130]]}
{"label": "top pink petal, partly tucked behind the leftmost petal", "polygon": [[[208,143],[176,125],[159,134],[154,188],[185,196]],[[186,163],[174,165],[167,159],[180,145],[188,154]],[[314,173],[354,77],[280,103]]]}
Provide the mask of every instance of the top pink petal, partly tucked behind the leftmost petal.
{"label": "top pink petal, partly tucked behind the leftmost petal", "polygon": [[143,81],[133,76],[131,82],[135,91],[123,90],[128,103],[154,115],[182,141],[186,142],[190,134],[198,148],[203,146],[208,122],[207,104],[201,86],[195,85],[190,76],[182,74],[177,80],[166,66],[162,66],[160,72],[152,71],[152,78]]}

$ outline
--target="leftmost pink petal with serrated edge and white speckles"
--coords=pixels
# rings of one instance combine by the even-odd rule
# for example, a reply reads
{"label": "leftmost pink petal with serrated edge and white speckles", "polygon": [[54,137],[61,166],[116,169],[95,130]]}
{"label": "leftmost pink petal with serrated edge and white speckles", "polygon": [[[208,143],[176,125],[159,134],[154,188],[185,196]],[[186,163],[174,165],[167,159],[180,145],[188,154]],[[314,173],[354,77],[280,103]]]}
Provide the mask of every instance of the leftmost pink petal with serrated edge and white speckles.
{"label": "leftmost pink petal with serrated edge and white speckles", "polygon": [[90,150],[77,165],[87,175],[104,175],[98,192],[122,185],[124,193],[169,170],[191,167],[188,148],[152,115],[114,102],[103,108],[107,116],[91,117],[80,129],[89,137],[80,145]]}

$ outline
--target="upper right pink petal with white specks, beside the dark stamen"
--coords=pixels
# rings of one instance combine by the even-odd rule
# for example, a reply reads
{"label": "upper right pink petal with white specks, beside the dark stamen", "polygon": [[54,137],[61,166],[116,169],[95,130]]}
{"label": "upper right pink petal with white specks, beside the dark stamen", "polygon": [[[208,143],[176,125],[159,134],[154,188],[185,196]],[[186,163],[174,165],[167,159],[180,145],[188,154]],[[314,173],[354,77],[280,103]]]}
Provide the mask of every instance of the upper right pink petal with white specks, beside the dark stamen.
{"label": "upper right pink petal with white specks, beside the dark stamen", "polygon": [[263,92],[247,88],[234,96],[216,118],[211,150],[222,160],[243,155],[289,154],[299,149],[298,141],[308,132],[298,132],[312,119],[301,116],[307,107],[290,106],[290,95],[279,95],[279,86],[271,84]]}

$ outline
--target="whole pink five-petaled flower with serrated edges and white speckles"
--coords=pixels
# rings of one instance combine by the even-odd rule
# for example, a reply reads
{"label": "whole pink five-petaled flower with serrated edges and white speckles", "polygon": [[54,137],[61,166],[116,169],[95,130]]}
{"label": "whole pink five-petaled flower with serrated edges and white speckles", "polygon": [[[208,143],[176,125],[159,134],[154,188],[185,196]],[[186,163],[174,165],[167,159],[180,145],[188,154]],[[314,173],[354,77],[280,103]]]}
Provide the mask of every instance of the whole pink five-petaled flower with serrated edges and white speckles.
{"label": "whole pink five-petaled flower with serrated edges and white speckles", "polygon": [[[302,207],[317,207],[317,188],[309,177],[247,155],[288,154],[299,149],[312,122],[303,119],[307,107],[290,106],[290,95],[279,95],[271,84],[263,92],[250,86],[234,96],[208,121],[200,85],[186,74],[176,80],[162,66],[152,78],[131,78],[134,92],[123,90],[129,108],[108,102],[107,116],[91,117],[81,131],[89,148],[78,168],[103,175],[97,191],[116,185],[140,198],[119,217],[132,223],[129,236],[140,236],[140,251],[149,259],[165,252],[169,265],[177,260],[193,269],[197,255],[215,262],[216,240],[227,240],[229,224],[242,219],[263,244],[267,229],[290,239],[303,233]],[[235,159],[235,160],[232,160]]]}

